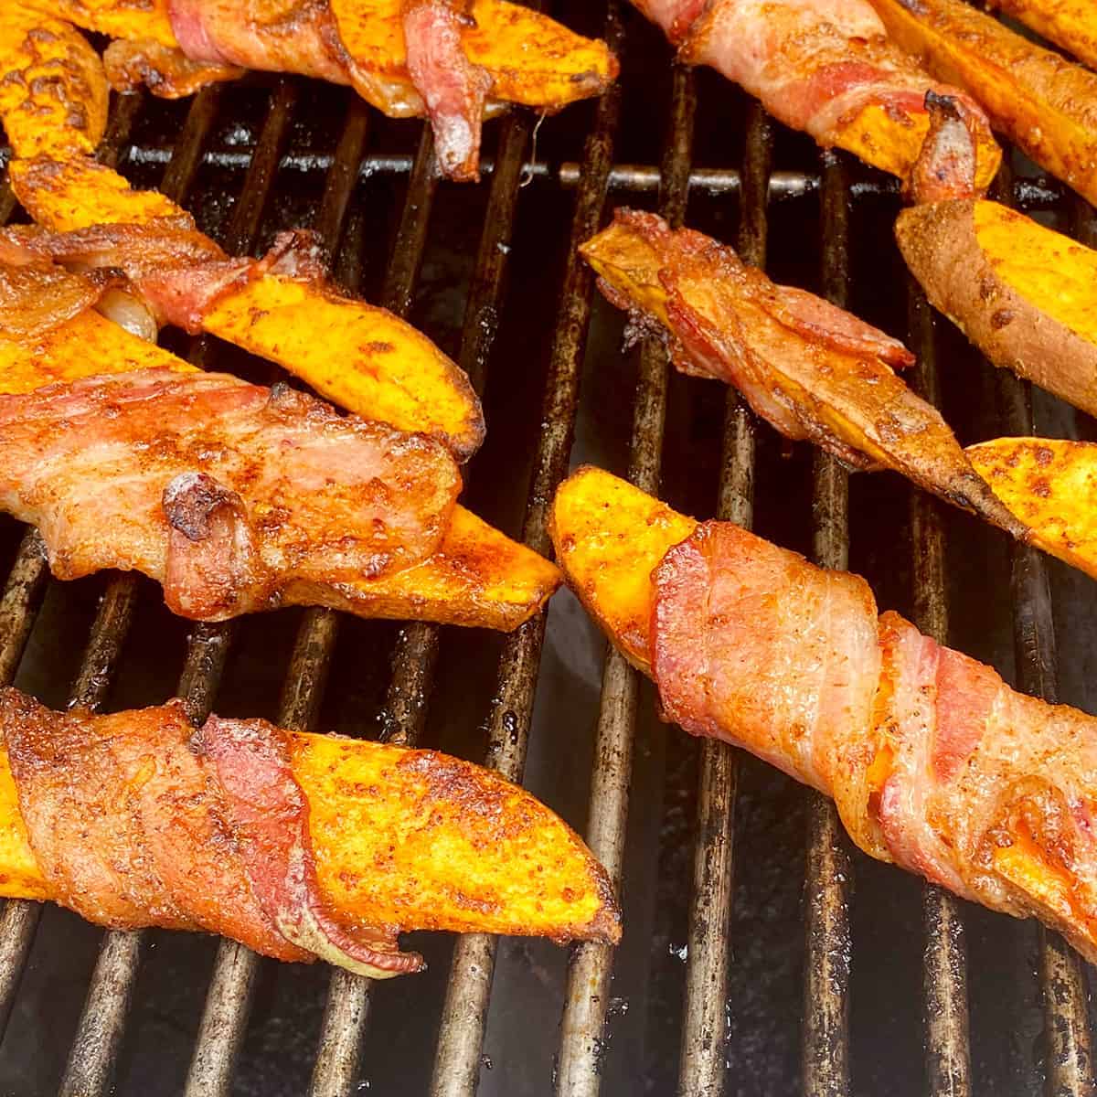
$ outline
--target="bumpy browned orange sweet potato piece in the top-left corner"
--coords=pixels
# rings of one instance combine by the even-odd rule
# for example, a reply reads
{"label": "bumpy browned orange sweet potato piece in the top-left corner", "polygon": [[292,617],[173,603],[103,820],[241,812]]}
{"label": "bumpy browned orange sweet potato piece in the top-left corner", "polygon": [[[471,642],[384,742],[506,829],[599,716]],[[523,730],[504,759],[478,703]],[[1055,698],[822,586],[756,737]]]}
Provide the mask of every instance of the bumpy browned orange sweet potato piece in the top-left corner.
{"label": "bumpy browned orange sweet potato piece in the top-left corner", "polygon": [[93,152],[106,129],[106,73],[70,24],[0,4],[0,121],[15,156]]}

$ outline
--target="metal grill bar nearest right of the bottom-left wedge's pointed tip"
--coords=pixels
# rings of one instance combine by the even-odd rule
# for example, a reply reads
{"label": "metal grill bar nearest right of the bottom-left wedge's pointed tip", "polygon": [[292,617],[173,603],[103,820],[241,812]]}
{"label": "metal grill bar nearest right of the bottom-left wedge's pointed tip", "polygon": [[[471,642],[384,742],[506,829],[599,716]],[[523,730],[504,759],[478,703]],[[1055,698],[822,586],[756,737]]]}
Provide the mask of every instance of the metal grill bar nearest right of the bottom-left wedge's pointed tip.
{"label": "metal grill bar nearest right of the bottom-left wedge's pointed tip", "polygon": [[[750,104],[743,158],[743,210],[738,251],[744,262],[766,265],[768,181],[773,134],[758,102]],[[720,518],[749,529],[754,521],[754,425],[746,403],[726,395]],[[680,1097],[720,1097],[726,1073],[728,928],[734,883],[733,842],[738,753],[726,743],[701,740],[698,838],[693,851],[682,1025]]]}

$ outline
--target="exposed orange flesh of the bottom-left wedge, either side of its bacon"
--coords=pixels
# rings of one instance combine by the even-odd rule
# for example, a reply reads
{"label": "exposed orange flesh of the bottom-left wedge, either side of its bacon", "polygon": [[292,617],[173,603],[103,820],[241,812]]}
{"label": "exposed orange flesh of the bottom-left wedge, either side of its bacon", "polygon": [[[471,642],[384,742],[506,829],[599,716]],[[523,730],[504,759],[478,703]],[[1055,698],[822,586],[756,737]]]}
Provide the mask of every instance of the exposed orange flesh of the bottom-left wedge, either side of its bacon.
{"label": "exposed orange flesh of the bottom-left wedge, either side of its bacon", "polygon": [[[523,789],[434,750],[296,733],[325,898],[351,921],[615,942],[606,871]],[[0,895],[48,900],[0,749]]]}

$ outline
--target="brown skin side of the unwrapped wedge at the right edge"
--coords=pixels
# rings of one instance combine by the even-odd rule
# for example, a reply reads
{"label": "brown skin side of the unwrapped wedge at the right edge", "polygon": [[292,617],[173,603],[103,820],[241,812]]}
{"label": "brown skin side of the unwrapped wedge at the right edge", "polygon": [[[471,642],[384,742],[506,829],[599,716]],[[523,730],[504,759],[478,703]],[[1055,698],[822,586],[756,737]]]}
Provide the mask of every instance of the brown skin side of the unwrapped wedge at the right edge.
{"label": "brown skin side of the unwrapped wedge at the right edge", "polygon": [[975,236],[975,199],[904,210],[895,238],[930,304],[995,364],[1097,415],[1097,346],[1007,285]]}

